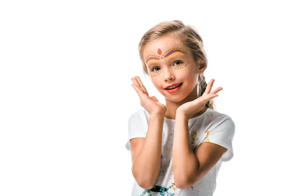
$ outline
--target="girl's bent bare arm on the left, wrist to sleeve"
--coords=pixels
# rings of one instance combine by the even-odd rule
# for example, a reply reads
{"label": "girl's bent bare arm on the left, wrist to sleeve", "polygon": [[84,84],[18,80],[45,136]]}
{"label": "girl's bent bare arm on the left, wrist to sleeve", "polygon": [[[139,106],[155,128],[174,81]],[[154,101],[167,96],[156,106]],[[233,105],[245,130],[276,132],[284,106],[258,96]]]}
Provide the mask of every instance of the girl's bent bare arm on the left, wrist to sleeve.
{"label": "girl's bent bare arm on the left, wrist to sleeve", "polygon": [[150,115],[144,144],[133,149],[132,139],[130,140],[132,174],[144,189],[153,188],[160,173],[163,123],[164,116]]}

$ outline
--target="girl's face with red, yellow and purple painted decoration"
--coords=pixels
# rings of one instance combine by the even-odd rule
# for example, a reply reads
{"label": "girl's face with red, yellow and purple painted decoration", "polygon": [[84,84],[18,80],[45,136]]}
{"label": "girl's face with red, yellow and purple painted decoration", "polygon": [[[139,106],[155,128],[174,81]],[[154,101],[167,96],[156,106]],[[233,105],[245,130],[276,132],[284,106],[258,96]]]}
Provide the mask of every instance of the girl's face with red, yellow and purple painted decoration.
{"label": "girl's face with red, yellow and purple painted decoration", "polygon": [[[199,62],[194,61],[192,53],[171,37],[149,43],[144,49],[144,58],[152,83],[173,102],[186,98],[198,82],[197,74],[205,71],[199,70]],[[165,90],[168,85],[177,83],[182,83],[177,92]]]}

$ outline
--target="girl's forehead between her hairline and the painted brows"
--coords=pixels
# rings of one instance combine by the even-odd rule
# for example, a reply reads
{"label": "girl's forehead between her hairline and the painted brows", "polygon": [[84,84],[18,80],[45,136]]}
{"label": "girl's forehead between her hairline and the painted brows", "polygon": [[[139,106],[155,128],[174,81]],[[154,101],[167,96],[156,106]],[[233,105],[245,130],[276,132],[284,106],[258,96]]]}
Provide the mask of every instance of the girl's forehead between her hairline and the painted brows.
{"label": "girl's forehead between her hairline and the painted brows", "polygon": [[146,59],[150,55],[159,55],[158,50],[161,49],[162,55],[171,49],[184,49],[181,42],[171,37],[160,38],[149,43],[144,49],[144,58]]}

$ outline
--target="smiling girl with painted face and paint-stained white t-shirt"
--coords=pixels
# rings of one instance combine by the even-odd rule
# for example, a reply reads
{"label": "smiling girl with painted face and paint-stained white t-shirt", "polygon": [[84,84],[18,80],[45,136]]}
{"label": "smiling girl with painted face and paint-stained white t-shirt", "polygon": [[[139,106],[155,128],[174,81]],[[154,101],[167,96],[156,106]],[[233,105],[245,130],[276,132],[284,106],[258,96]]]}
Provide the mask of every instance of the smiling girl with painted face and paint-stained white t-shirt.
{"label": "smiling girl with painted face and paint-stained white t-shirt", "polygon": [[128,121],[132,196],[212,196],[222,162],[234,156],[235,123],[213,106],[222,88],[206,83],[201,36],[181,21],[163,22],[146,32],[139,52],[166,105],[131,78],[144,107]]}

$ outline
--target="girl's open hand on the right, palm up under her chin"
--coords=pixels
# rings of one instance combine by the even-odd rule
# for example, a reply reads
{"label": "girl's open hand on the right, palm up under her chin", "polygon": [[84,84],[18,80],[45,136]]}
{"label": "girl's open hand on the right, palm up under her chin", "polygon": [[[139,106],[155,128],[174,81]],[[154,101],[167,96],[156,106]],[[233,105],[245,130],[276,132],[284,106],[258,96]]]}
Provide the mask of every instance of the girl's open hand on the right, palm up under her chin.
{"label": "girl's open hand on the right, palm up under her chin", "polygon": [[185,115],[189,119],[194,114],[202,111],[205,108],[207,101],[218,97],[216,93],[222,90],[221,87],[218,87],[217,89],[214,89],[212,92],[210,92],[214,81],[214,79],[209,81],[207,88],[201,97],[180,105],[176,110],[176,114]]}

